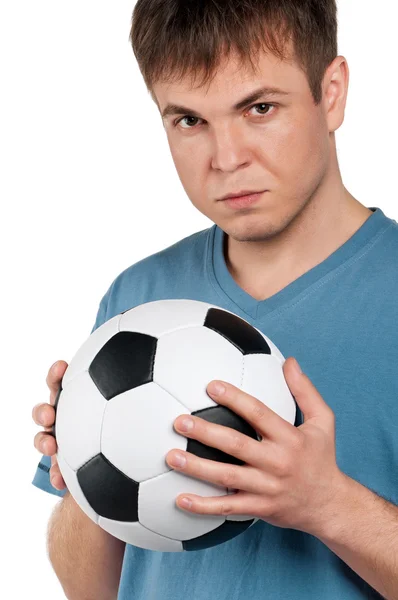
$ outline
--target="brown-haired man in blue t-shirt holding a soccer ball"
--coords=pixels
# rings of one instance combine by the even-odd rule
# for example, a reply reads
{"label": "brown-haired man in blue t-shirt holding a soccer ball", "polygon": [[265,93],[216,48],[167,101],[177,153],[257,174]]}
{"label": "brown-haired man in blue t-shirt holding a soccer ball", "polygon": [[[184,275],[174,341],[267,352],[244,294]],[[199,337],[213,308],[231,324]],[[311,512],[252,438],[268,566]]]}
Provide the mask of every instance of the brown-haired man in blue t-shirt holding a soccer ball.
{"label": "brown-haired man in blue t-shirt holding a soccer ball", "polygon": [[[100,303],[94,329],[162,298],[232,310],[289,356],[284,374],[302,419],[293,427],[228,382],[219,396],[209,386],[216,401],[253,419],[263,440],[236,443],[227,429],[195,419],[184,435],[228,448],[246,464],[231,469],[185,454],[186,466],[178,467],[170,451],[170,467],[239,490],[227,498],[191,497],[190,508],[180,504],[182,496],[176,501],[197,514],[260,520],[227,543],[185,553],[125,545],[92,523],[64,489],[55,440],[39,432],[35,446],[45,457],[33,483],[64,496],[50,522],[49,554],[69,598],[398,598],[398,226],[343,185],[335,131],[344,120],[347,62],[334,54],[320,71],[319,102],[316,78],[299,62],[305,48],[314,53],[308,40],[335,37],[335,2],[316,4],[318,12],[312,2],[236,0],[222,16],[219,2],[136,5],[133,47],[144,74],[145,44],[155,53],[159,42],[169,56],[169,34],[170,47],[189,64],[177,34],[191,44],[200,31],[217,40],[225,30],[233,40],[250,39],[256,23],[250,15],[261,20],[261,10],[269,11],[264,22],[271,27],[283,9],[296,44],[285,40],[283,60],[261,49],[257,71],[239,61],[236,48],[223,54],[208,89],[193,88],[188,76],[153,80],[180,179],[214,226],[121,273]],[[307,46],[300,46],[300,35]],[[214,47],[209,40],[208,47]],[[257,93],[265,87],[279,92]],[[52,404],[66,366],[60,361],[49,371]],[[54,409],[40,404],[33,418],[48,431]]]}

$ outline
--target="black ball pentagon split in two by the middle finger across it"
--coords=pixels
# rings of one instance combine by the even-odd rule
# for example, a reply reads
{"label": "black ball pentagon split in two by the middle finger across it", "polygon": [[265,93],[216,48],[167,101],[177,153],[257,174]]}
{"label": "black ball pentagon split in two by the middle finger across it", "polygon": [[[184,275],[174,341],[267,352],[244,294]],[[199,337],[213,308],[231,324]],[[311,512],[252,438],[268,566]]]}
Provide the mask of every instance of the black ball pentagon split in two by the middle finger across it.
{"label": "black ball pentagon split in two by the middle finger across it", "polygon": [[[217,425],[224,425],[224,427],[231,427],[248,437],[258,441],[257,433],[255,429],[245,419],[242,419],[239,415],[229,409],[227,406],[211,406],[209,408],[203,408],[196,410],[192,413],[194,416],[200,417],[209,423],[216,423]],[[187,452],[191,452],[200,458],[207,458],[208,460],[216,460],[218,462],[230,463],[234,465],[244,465],[244,461],[235,456],[231,456],[218,448],[207,446],[198,440],[189,439],[187,444]]]}

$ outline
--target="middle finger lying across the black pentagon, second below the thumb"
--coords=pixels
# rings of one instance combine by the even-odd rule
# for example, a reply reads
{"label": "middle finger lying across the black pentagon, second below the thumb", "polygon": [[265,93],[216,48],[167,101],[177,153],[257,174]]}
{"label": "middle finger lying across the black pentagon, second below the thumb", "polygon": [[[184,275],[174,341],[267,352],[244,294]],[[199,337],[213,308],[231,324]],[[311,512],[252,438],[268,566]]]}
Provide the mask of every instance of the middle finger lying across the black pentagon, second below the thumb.
{"label": "middle finger lying across the black pentagon, second below the thumb", "polygon": [[[188,423],[191,424],[189,430],[186,429]],[[174,422],[174,427],[185,437],[198,440],[212,448],[218,448],[253,467],[266,469],[271,466],[273,442],[254,440],[236,429],[209,423],[205,419],[193,415],[179,416]]]}

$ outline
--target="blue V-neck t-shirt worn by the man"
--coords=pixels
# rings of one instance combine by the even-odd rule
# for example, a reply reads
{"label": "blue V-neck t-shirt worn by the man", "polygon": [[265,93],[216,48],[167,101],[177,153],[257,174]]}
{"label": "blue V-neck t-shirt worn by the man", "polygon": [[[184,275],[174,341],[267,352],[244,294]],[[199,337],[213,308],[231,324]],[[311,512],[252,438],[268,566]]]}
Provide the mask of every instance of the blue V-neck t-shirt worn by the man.
{"label": "blue V-neck t-shirt worn by the man", "polygon": [[[294,356],[336,417],[339,468],[398,504],[398,224],[380,208],[340,248],[258,301],[234,281],[216,225],[121,273],[94,329],[153,300],[186,298],[235,312]],[[302,421],[301,421],[302,422]],[[33,484],[62,496],[42,457]],[[381,598],[318,538],[265,521],[196,552],[126,545],[118,600]]]}

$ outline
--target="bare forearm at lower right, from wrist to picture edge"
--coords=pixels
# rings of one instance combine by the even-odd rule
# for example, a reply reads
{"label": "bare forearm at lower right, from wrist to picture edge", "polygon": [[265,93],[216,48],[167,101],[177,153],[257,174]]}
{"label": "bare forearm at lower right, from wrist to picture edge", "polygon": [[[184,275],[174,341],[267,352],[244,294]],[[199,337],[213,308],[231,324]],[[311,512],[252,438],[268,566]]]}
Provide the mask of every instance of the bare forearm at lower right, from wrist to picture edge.
{"label": "bare forearm at lower right, from wrist to picture edge", "polygon": [[398,600],[398,507],[344,475],[317,537],[387,600]]}

